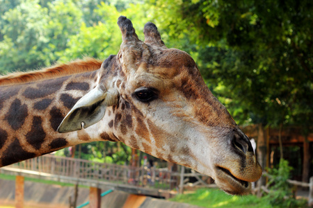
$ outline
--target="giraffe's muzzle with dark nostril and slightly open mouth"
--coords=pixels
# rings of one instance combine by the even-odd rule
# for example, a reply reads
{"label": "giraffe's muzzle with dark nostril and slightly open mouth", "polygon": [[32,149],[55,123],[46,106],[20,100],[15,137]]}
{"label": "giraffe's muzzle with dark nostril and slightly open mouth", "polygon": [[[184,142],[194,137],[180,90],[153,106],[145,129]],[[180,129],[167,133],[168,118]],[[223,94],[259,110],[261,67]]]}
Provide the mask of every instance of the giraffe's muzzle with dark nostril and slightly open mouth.
{"label": "giraffe's muzzle with dark nostril and slightly open mouth", "polygon": [[235,128],[228,140],[230,154],[215,164],[218,187],[233,195],[250,193],[251,182],[259,180],[262,168],[256,160],[248,137]]}

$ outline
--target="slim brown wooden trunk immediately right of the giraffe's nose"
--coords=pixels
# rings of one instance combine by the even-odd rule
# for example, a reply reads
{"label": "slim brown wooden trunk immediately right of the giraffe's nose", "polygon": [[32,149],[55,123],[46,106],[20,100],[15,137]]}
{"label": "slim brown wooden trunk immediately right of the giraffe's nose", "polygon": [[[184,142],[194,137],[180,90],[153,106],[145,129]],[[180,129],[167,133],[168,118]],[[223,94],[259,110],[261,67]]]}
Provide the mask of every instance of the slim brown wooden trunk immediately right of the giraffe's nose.
{"label": "slim brown wooden trunk immediately right of the giraffe's nose", "polygon": [[[264,130],[264,126],[262,123],[259,123],[258,125],[258,135],[257,135],[257,161],[262,166],[263,171],[264,168],[266,168],[266,132]],[[261,177],[259,181],[257,182],[257,196],[261,196],[261,187],[265,186],[266,179],[265,177]]]}

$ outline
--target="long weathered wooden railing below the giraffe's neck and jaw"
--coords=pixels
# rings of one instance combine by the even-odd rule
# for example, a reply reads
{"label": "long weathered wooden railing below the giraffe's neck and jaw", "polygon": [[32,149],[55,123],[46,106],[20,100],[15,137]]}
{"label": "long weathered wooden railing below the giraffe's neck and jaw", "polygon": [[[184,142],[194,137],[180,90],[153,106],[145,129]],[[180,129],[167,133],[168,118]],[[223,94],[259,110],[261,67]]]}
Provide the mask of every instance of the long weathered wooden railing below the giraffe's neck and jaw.
{"label": "long weathered wooden railing below the giraffe's neck and jaw", "polygon": [[12,164],[9,167],[51,175],[131,184],[135,187],[154,189],[169,189],[170,184],[176,182],[173,173],[165,168],[138,168],[54,155],[35,157]]}

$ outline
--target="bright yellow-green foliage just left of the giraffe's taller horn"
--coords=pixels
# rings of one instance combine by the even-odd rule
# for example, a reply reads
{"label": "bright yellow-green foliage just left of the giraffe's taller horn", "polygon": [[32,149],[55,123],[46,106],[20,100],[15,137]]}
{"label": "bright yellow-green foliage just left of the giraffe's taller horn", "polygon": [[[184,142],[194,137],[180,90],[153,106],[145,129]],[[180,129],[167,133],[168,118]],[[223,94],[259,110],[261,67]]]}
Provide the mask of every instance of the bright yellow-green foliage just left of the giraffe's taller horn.
{"label": "bright yellow-green foliage just left of the giraffe's taller horn", "polygon": [[122,42],[120,30],[116,26],[116,19],[120,16],[118,10],[114,6],[101,3],[93,12],[102,17],[102,20],[89,27],[82,23],[77,29],[79,33],[69,37],[67,49],[56,53],[61,61],[69,61],[82,55],[106,58],[118,53]]}

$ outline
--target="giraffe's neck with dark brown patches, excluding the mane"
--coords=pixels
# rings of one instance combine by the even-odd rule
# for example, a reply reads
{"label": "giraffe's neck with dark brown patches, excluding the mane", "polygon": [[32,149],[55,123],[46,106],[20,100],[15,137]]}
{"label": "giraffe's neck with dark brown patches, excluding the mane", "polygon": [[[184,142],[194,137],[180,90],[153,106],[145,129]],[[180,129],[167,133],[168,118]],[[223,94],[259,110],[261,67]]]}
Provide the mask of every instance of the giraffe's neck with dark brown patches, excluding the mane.
{"label": "giraffe's neck with dark brown patches, excluding the mane", "polygon": [[112,140],[112,135],[100,132],[97,125],[77,132],[56,132],[79,98],[95,87],[98,71],[0,85],[0,166],[67,146]]}

